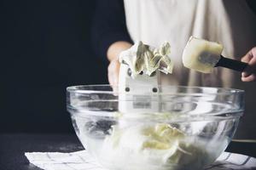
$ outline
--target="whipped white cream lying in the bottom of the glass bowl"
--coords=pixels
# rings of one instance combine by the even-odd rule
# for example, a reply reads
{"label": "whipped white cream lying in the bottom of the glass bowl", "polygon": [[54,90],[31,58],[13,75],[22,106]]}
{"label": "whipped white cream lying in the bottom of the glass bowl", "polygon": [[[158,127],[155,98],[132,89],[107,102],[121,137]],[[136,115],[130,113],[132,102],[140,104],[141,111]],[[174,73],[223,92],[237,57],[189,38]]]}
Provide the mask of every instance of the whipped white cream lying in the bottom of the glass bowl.
{"label": "whipped white cream lying in the bottom of the glass bowl", "polygon": [[[102,157],[115,167],[137,169],[197,169],[210,161],[207,151],[166,123],[113,126],[102,144]],[[186,167],[187,168],[187,167]]]}

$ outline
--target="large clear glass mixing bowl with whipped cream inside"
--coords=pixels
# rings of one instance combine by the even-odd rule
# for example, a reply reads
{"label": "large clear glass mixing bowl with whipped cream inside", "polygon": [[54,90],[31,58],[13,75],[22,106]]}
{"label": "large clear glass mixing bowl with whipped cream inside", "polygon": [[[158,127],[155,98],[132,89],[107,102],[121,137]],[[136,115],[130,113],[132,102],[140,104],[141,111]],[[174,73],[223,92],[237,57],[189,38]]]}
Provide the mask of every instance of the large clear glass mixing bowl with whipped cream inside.
{"label": "large clear glass mixing bowl with whipped cream inside", "polygon": [[[113,90],[114,89],[114,90]],[[112,170],[201,169],[226,149],[244,111],[229,88],[108,85],[67,88],[85,150]]]}

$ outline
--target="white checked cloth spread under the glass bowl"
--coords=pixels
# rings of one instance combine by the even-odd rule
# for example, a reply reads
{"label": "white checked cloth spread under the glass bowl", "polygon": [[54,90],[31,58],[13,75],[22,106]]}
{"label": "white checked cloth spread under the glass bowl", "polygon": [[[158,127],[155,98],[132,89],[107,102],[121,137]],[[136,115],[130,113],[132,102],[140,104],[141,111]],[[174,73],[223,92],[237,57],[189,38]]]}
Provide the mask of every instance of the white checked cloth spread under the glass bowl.
{"label": "white checked cloth spread under the glass bowl", "polygon": [[[107,170],[99,165],[86,150],[73,153],[32,152],[25,153],[26,158],[35,166],[45,170]],[[256,169],[256,159],[224,152],[206,170]]]}

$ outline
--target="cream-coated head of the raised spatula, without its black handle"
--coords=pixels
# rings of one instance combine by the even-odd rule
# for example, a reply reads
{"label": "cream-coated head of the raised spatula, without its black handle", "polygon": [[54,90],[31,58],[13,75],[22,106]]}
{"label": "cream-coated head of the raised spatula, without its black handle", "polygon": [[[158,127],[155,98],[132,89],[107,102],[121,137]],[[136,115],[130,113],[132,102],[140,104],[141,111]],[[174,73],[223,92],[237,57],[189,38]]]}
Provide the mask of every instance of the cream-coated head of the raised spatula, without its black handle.
{"label": "cream-coated head of the raised spatula, without its black handle", "polygon": [[190,37],[183,50],[183,65],[195,71],[211,73],[220,59],[223,46],[217,42],[209,42]]}

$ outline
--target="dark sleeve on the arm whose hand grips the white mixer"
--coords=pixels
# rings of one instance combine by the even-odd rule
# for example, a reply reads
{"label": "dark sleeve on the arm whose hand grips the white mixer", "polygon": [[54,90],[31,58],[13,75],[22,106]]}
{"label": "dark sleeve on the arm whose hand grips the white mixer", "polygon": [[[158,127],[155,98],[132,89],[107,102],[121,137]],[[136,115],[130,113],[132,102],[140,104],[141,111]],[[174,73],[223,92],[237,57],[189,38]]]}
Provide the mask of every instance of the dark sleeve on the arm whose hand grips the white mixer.
{"label": "dark sleeve on the arm whose hand grips the white mixer", "polygon": [[91,42],[97,55],[107,59],[107,51],[113,42],[131,42],[125,23],[123,0],[97,0],[92,23]]}

